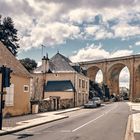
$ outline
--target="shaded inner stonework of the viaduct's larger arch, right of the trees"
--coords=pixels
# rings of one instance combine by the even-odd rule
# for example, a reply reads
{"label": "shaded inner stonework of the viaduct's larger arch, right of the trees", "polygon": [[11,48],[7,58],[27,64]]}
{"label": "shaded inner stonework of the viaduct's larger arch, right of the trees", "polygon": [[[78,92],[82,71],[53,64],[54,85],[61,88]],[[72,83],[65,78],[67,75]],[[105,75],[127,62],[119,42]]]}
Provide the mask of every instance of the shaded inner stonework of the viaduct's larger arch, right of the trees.
{"label": "shaded inner stonework of the viaduct's larger arch, right of the trees", "polygon": [[124,67],[128,68],[130,74],[129,67],[124,63],[116,63],[109,68],[107,85],[110,89],[110,94],[119,95],[119,75]]}

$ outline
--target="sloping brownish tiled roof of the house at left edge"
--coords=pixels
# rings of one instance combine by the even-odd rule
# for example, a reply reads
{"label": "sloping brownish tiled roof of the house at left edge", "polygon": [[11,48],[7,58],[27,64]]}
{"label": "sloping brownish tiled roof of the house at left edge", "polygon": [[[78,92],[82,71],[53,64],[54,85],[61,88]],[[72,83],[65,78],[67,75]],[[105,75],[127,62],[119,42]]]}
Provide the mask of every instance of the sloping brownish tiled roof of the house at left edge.
{"label": "sloping brownish tiled roof of the house at left edge", "polygon": [[0,66],[6,66],[13,70],[13,74],[31,77],[25,67],[11,54],[11,52],[0,42]]}

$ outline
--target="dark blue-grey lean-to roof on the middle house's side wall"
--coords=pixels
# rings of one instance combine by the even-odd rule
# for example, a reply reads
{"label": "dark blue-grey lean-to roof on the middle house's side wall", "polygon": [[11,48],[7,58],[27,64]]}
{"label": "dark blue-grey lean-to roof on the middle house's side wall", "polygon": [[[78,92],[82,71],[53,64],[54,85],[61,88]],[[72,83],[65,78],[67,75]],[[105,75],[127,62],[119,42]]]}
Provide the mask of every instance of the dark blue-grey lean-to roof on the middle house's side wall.
{"label": "dark blue-grey lean-to roof on the middle house's side wall", "polygon": [[45,85],[45,92],[58,92],[58,91],[74,91],[74,87],[70,80],[63,81],[48,81]]}

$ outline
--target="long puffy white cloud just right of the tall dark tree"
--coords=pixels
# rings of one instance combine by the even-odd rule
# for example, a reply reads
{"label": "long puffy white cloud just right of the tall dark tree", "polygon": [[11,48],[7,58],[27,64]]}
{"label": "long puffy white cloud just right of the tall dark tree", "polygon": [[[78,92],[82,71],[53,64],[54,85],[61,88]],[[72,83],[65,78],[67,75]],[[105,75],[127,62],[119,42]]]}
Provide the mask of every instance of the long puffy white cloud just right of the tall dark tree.
{"label": "long puffy white cloud just right of the tall dark tree", "polygon": [[22,46],[26,44],[26,48],[28,49],[32,47],[38,47],[41,44],[54,45],[60,44],[65,41],[67,38],[76,38],[80,32],[79,27],[65,24],[65,23],[48,23],[42,26],[36,26],[30,31],[30,38],[28,36],[24,36],[21,40]]}

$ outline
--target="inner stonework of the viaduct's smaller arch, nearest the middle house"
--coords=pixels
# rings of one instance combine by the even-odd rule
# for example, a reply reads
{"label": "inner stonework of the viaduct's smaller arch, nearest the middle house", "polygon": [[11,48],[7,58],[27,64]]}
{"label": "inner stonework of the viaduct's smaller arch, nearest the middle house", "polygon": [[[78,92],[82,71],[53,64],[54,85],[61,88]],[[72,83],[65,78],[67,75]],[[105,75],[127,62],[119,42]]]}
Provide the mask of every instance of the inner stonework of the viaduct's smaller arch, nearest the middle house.
{"label": "inner stonework of the viaduct's smaller arch, nearest the middle house", "polygon": [[[97,67],[97,66],[92,66],[92,67],[87,69],[87,76],[89,77],[89,79],[91,81],[95,81],[96,75],[97,75],[99,70],[101,70],[101,72],[103,74],[102,69]],[[103,79],[104,79],[104,74],[103,74]]]}

